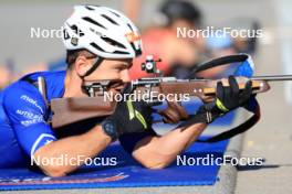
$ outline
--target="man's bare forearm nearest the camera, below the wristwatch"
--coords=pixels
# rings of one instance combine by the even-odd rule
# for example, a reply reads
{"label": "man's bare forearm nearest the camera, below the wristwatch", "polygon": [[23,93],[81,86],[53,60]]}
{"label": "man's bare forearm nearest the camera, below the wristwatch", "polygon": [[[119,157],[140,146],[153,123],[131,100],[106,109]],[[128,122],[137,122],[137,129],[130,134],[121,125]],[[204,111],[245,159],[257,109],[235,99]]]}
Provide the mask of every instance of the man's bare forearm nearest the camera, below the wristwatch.
{"label": "man's bare forearm nearest the camera, below the wristwatch", "polygon": [[[111,138],[103,132],[101,126],[96,126],[84,134],[53,141],[40,148],[33,157],[35,159],[35,163],[44,171],[44,173],[51,176],[61,176],[77,169],[84,163],[85,159],[93,158],[98,154],[111,143]],[[43,160],[60,158],[65,158],[66,161],[61,164],[50,162],[48,165],[38,163],[38,159]]]}

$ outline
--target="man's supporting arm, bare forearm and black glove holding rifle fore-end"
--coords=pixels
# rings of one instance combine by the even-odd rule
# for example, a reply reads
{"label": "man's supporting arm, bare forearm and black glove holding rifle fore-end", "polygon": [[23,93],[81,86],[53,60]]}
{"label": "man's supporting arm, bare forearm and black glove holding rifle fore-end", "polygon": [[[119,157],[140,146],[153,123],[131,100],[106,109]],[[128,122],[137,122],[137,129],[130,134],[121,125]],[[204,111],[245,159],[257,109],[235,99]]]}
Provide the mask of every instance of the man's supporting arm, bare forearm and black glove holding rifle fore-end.
{"label": "man's supporting arm, bare forearm and black glove holding rifle fore-end", "polygon": [[229,84],[219,82],[213,101],[202,105],[197,114],[179,125],[180,128],[163,137],[148,136],[135,144],[133,157],[149,169],[161,169],[169,165],[176,155],[185,151],[197,140],[207,123],[218,117],[248,104],[251,95],[251,82],[240,91],[234,77],[229,77]]}

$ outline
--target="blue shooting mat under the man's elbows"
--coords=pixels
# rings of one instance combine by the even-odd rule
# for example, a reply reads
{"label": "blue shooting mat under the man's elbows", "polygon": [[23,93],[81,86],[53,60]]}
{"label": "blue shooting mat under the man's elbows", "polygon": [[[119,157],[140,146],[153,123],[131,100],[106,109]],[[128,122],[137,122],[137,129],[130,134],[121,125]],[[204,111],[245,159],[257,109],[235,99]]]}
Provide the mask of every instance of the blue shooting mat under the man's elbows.
{"label": "blue shooting mat under the man's elbows", "polygon": [[114,143],[98,155],[96,165],[86,165],[64,177],[49,177],[28,169],[2,169],[0,191],[212,185],[219,180],[220,166],[196,159],[222,158],[227,144],[228,141],[195,143],[170,166],[148,170]]}

